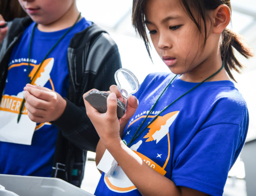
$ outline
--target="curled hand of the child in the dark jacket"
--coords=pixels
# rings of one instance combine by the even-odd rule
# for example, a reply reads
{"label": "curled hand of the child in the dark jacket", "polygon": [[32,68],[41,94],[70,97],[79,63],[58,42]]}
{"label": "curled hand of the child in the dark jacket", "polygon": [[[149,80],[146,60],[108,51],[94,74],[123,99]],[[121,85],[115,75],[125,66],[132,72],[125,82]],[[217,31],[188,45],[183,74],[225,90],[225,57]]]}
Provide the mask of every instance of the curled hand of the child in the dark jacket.
{"label": "curled hand of the child in the dark jacket", "polygon": [[34,122],[55,121],[66,108],[66,100],[46,87],[27,84],[24,87],[24,98],[29,118]]}

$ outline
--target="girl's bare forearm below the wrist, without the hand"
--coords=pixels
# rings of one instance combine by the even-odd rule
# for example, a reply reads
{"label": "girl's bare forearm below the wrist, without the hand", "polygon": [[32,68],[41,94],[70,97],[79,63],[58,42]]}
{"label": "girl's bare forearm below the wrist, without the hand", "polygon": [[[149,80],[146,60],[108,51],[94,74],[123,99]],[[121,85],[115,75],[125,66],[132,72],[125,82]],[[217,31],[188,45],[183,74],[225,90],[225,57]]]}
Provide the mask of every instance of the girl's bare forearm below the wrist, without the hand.
{"label": "girl's bare forearm below the wrist, without the hand", "polygon": [[111,141],[105,145],[142,195],[182,195],[181,190],[175,186],[172,180],[150,168],[121,139]]}

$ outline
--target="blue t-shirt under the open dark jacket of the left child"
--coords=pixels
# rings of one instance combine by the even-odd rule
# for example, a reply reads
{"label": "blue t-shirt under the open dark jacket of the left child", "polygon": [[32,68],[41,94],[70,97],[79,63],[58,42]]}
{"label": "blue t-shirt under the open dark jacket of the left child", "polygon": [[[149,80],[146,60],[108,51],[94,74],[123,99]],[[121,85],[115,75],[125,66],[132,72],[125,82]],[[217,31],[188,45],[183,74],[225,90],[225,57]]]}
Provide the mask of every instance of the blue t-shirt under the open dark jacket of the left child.
{"label": "blue t-shirt under the open dark jacket of the left child", "polygon": [[[75,33],[81,32],[91,24],[85,18],[77,22],[47,56],[33,84],[45,86],[66,97],[69,80],[67,49],[70,40]],[[45,55],[69,29],[66,28],[57,32],[40,32],[36,28],[32,40],[30,69],[28,70],[29,42],[34,25],[33,22],[25,29],[21,39],[13,48],[2,102],[8,98],[11,100],[12,97],[13,100],[23,98],[22,91],[27,84],[27,72],[29,71],[30,82]],[[22,94],[20,98],[19,94]],[[4,107],[4,104],[1,106]],[[17,113],[17,111],[9,112]],[[18,117],[18,114],[14,115],[16,118]],[[50,123],[37,123],[31,145],[0,142],[0,173],[50,177],[57,132],[58,128]]]}

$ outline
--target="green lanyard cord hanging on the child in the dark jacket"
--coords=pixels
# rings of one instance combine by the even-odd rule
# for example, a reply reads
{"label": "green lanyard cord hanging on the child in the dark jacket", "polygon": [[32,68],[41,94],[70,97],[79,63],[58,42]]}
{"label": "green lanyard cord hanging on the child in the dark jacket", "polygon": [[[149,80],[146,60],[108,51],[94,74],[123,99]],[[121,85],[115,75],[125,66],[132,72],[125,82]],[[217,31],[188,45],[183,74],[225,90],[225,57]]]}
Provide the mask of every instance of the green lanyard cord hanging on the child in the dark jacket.
{"label": "green lanyard cord hanging on the child in the dark jacket", "polygon": [[[43,58],[43,60],[41,61],[40,65],[39,65],[38,69],[36,70],[36,73],[34,74],[34,76],[32,77],[31,81],[29,82],[29,68],[30,68],[31,46],[32,46],[32,39],[34,37],[34,31],[35,31],[35,28],[36,28],[37,24],[34,25],[32,33],[31,33],[30,42],[29,42],[29,62],[28,62],[28,72],[27,72],[27,83],[31,84],[33,82],[34,78],[36,77],[36,74],[40,70],[40,68],[41,68],[41,66],[43,64],[43,61],[45,61],[45,59],[47,58],[48,54],[50,54],[50,52],[52,52],[52,50],[59,44],[59,42],[66,36],[66,34],[68,34],[68,32],[70,32],[72,30],[72,28],[75,26],[75,24],[77,23],[77,21],[79,20],[80,17],[81,17],[81,12],[80,12],[79,16],[77,17],[75,23],[61,36],[61,38],[54,44],[54,46],[52,46],[52,48],[45,55],[45,57]],[[24,103],[25,103],[25,98],[23,98],[23,100],[21,102],[20,112],[18,114],[17,123],[20,121],[21,112],[23,110]]]}

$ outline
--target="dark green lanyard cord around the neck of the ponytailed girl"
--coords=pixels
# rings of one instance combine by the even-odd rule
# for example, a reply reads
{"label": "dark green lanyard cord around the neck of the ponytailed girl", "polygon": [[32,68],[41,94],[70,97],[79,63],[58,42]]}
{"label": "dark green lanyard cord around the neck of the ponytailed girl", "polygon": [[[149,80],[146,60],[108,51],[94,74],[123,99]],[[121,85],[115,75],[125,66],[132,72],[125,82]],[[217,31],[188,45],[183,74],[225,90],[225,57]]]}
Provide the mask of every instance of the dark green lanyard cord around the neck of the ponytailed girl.
{"label": "dark green lanyard cord around the neck of the ponytailed girl", "polygon": [[141,135],[141,133],[143,133],[143,131],[145,131],[145,129],[146,129],[150,124],[152,124],[152,122],[154,122],[154,121],[156,120],[156,118],[157,118],[163,111],[166,110],[166,108],[170,107],[170,106],[171,106],[172,104],[174,104],[177,100],[179,100],[180,98],[182,98],[183,96],[185,96],[186,94],[188,94],[190,91],[192,91],[192,90],[195,89],[196,87],[200,86],[200,85],[201,85],[202,83],[204,83],[206,80],[209,80],[211,77],[215,76],[218,72],[220,72],[220,71],[222,70],[222,68],[224,68],[224,65],[225,65],[225,63],[222,62],[222,66],[221,66],[221,68],[220,68],[217,72],[213,73],[211,76],[209,76],[208,78],[206,78],[205,80],[203,80],[203,81],[200,82],[199,84],[195,85],[195,86],[192,87],[190,90],[188,90],[186,93],[182,94],[182,95],[179,96],[177,99],[175,99],[174,101],[172,101],[172,103],[170,103],[170,104],[167,105],[165,108],[163,108],[163,110],[161,110],[161,111],[158,113],[158,115],[156,115],[156,116],[147,124],[147,126],[146,126],[144,129],[142,129],[142,130],[140,131],[140,133],[138,133],[139,130],[140,130],[140,128],[141,128],[141,126],[144,124],[144,122],[145,122],[146,119],[148,118],[150,112],[153,110],[154,106],[155,106],[156,103],[158,102],[159,98],[160,98],[160,97],[163,95],[163,93],[166,91],[167,87],[170,86],[170,84],[172,84],[172,81],[177,77],[177,75],[175,75],[175,77],[167,84],[167,86],[165,87],[165,89],[163,90],[163,92],[159,95],[158,99],[155,101],[154,105],[153,105],[153,106],[151,107],[151,109],[149,110],[149,113],[146,115],[145,119],[141,122],[139,128],[136,130],[136,132],[134,133],[134,135],[133,135],[131,141],[129,142],[129,144],[127,144],[127,146],[131,145],[132,142],[134,142],[134,140],[136,140],[136,139]]}

